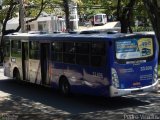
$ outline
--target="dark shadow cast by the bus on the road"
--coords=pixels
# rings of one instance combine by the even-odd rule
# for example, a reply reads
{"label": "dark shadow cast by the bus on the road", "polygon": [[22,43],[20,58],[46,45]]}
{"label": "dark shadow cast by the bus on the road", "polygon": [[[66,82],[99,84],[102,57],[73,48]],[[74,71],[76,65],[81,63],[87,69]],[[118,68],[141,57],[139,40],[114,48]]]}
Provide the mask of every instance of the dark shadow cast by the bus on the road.
{"label": "dark shadow cast by the bus on the road", "polygon": [[[65,98],[53,89],[28,83],[18,84],[14,80],[0,80],[0,90],[11,94],[11,101],[16,101],[18,104],[23,104],[28,100],[28,102],[38,102],[58,110],[66,111],[69,114],[116,110],[150,104],[149,102],[127,97],[104,98],[74,95],[73,97]],[[11,107],[12,105],[9,106]],[[34,105],[32,104],[31,107],[32,106]]]}

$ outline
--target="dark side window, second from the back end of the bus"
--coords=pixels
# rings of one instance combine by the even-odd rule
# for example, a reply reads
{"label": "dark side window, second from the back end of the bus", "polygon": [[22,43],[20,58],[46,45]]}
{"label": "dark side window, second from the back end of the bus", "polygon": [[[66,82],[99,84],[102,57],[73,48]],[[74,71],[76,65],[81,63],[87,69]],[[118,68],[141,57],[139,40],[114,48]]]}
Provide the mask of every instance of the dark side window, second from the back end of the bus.
{"label": "dark side window, second from the back end of the bus", "polygon": [[85,42],[76,43],[76,64],[89,65],[90,44]]}

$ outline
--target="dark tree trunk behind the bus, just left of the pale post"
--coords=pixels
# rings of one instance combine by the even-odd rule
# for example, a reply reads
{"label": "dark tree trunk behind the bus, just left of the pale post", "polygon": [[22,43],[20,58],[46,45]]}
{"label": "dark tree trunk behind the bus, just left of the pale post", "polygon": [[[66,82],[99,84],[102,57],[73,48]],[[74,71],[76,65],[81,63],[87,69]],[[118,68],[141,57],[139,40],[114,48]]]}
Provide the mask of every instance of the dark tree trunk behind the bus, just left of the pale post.
{"label": "dark tree trunk behind the bus, just left of the pale post", "polygon": [[69,23],[69,4],[68,0],[63,0],[64,4],[64,12],[66,16],[66,31],[70,31],[70,23]]}

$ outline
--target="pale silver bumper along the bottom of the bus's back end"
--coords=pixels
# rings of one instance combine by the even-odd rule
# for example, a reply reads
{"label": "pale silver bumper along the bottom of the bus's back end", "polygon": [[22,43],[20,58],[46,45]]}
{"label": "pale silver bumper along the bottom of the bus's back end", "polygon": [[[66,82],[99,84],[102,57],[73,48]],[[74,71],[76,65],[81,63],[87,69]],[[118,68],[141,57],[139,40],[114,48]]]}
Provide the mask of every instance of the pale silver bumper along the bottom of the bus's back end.
{"label": "pale silver bumper along the bottom of the bus's back end", "polygon": [[132,88],[132,89],[117,89],[113,86],[110,86],[110,97],[124,96],[130,94],[138,94],[143,92],[151,92],[158,90],[159,81],[157,80],[154,84],[141,87],[141,88]]}

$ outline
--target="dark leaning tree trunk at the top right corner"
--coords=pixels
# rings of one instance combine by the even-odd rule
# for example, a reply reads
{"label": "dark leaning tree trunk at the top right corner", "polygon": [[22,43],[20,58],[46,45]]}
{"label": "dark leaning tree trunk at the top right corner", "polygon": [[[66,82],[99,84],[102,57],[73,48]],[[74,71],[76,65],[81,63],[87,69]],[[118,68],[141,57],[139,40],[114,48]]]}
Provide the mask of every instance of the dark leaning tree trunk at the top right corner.
{"label": "dark leaning tree trunk at the top right corner", "polygon": [[[143,0],[155,31],[158,43],[160,43],[160,1],[159,0]],[[160,49],[160,45],[159,45]],[[160,55],[159,55],[160,62]]]}

